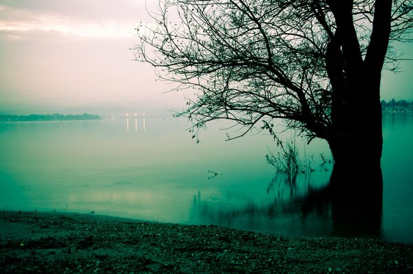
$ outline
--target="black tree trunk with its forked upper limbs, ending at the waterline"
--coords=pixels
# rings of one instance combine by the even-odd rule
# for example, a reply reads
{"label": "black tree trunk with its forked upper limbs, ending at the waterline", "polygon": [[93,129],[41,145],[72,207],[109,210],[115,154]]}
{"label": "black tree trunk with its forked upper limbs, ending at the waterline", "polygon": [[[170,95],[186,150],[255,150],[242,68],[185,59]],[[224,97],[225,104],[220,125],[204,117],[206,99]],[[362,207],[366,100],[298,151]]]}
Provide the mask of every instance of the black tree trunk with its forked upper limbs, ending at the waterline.
{"label": "black tree trunk with its forked upper limbs, ending at the waterline", "polygon": [[372,201],[379,201],[383,191],[380,82],[390,37],[392,1],[376,3],[365,56],[352,21],[352,1],[328,4],[337,21],[326,57],[332,84],[332,128],[326,137],[335,160],[330,181],[332,196],[337,193],[359,200],[371,196]]}

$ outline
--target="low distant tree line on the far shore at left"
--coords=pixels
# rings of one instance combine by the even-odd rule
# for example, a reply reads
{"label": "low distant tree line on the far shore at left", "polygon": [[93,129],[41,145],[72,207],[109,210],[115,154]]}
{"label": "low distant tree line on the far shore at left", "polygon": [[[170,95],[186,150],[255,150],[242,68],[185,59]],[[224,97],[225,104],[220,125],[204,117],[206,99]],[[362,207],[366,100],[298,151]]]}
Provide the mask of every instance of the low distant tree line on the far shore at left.
{"label": "low distant tree line on the far shore at left", "polygon": [[30,121],[73,121],[73,120],[97,120],[99,115],[83,113],[81,115],[54,114],[30,114],[30,115],[0,115],[0,122],[30,122]]}

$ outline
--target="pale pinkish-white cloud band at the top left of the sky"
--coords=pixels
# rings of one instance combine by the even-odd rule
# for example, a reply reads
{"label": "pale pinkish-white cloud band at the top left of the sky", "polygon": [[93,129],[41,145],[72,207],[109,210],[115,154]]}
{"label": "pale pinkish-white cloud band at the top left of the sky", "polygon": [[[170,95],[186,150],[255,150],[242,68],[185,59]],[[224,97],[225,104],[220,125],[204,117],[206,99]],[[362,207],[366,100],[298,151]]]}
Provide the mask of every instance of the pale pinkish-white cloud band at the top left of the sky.
{"label": "pale pinkish-white cloud band at the top left of the sky", "polygon": [[60,32],[70,36],[123,38],[149,19],[145,1],[0,1],[0,31]]}

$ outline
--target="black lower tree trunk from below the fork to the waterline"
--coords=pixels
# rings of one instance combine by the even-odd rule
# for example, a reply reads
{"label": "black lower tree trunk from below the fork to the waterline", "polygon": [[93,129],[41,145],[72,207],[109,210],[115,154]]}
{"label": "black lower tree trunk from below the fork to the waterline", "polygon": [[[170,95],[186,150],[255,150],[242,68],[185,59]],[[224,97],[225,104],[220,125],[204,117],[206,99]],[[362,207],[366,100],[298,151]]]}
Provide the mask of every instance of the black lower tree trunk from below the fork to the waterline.
{"label": "black lower tree trunk from below the fork to the waterline", "polygon": [[373,79],[363,73],[359,79],[363,83],[357,89],[333,102],[334,129],[328,144],[335,165],[330,188],[337,198],[377,203],[383,192],[380,76]]}

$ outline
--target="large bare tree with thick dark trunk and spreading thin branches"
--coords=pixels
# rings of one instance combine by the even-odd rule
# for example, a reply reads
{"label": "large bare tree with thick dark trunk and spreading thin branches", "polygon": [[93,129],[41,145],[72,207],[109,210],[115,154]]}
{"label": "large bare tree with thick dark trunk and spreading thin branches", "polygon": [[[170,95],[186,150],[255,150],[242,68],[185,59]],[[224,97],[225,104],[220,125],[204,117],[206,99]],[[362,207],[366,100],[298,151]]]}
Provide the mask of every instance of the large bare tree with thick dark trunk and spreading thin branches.
{"label": "large bare tree with thick dark trunk and spreading thin branches", "polygon": [[[272,119],[326,139],[332,188],[381,193],[380,83],[394,42],[410,41],[412,0],[165,0],[140,25],[136,60],[176,89],[195,89],[181,114],[272,130]],[[243,135],[243,134],[242,134]],[[233,139],[242,135],[229,137]],[[360,175],[355,175],[360,174]]]}

